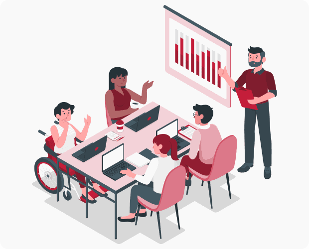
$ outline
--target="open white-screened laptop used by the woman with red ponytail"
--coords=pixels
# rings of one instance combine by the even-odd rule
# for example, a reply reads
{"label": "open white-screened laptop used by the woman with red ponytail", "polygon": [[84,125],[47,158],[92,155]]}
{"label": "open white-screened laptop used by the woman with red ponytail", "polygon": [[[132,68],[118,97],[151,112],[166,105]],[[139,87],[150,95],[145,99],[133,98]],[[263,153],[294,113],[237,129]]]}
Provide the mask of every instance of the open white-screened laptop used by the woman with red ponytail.
{"label": "open white-screened laptop used by the woman with red ponytail", "polygon": [[132,164],[126,162],[125,158],[125,144],[120,144],[109,152],[102,155],[102,172],[104,175],[112,178],[114,181],[125,176],[120,171],[124,169],[135,170]]}

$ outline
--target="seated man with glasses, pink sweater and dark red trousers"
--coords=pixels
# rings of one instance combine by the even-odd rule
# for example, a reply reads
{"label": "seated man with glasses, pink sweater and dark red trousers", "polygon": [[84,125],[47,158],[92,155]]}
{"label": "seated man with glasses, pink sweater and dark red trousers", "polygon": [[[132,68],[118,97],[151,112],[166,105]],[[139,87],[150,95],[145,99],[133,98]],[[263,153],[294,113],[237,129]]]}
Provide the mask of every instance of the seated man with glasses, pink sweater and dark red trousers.
{"label": "seated man with glasses, pink sweater and dark red trousers", "polygon": [[216,149],[222,141],[217,126],[209,124],[213,117],[212,108],[196,104],[193,110],[195,111],[193,113],[195,124],[199,127],[193,133],[189,155],[183,156],[180,162],[180,165],[184,166],[187,171],[186,186],[191,185],[191,180],[188,180],[188,167],[202,175],[209,175]]}

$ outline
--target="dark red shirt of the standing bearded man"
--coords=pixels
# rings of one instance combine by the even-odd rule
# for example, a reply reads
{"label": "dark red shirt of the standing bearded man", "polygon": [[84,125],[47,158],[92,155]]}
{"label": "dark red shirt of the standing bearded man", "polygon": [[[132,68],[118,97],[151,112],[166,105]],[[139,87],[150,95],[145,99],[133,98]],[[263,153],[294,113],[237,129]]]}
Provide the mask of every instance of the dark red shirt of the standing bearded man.
{"label": "dark red shirt of the standing bearded man", "polygon": [[[246,84],[246,89],[252,91],[254,97],[261,97],[264,94],[271,92],[277,96],[277,89],[274,76],[271,72],[265,71],[262,68],[259,72],[254,73],[254,69],[248,69],[235,82],[235,87],[242,87]],[[233,89],[233,91],[236,91]],[[266,103],[263,101],[259,104]]]}

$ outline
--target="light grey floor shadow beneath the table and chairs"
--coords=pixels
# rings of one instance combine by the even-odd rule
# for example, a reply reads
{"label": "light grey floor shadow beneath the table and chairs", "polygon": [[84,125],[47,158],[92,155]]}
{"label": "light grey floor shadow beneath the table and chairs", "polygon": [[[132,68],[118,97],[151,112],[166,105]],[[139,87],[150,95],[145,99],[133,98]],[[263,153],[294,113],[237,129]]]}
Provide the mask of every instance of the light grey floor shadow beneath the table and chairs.
{"label": "light grey floor shadow beneath the table and chairs", "polygon": [[[234,175],[229,174],[230,182],[235,178]],[[72,181],[74,184],[74,181]],[[201,180],[196,177],[192,178],[192,185],[189,188],[189,193],[186,195],[186,188],[184,192],[183,199],[178,203],[178,209],[189,205],[190,203],[196,201],[200,205],[209,209],[212,212],[219,212],[222,209],[228,207],[234,202],[238,201],[239,198],[232,194],[232,199],[229,198],[229,193],[227,190],[223,189],[221,186],[226,184],[225,176],[211,181],[211,193],[212,193],[212,203],[213,209],[210,208],[209,194],[208,194],[208,186],[207,182],[204,182],[204,186],[201,187]],[[34,187],[44,191],[39,183],[36,181],[32,184]],[[67,183],[65,183],[67,186]],[[78,186],[77,183],[74,184]],[[233,190],[233,183],[230,183],[231,190]],[[117,216],[125,216],[129,214],[129,204],[130,204],[130,191],[131,187],[124,190],[120,194],[117,195],[118,200],[118,208],[117,208]],[[63,192],[63,191],[62,191]],[[55,194],[49,194],[50,197],[45,201],[50,206],[58,209],[62,213],[70,216],[71,218],[79,221],[90,229],[96,231],[102,236],[114,241],[117,244],[122,244],[123,242],[129,240],[135,235],[142,233],[148,238],[154,240],[159,244],[163,244],[166,241],[176,237],[177,235],[183,233],[185,230],[181,228],[181,216],[179,217],[180,221],[180,230],[178,229],[177,223],[174,224],[166,219],[166,217],[170,215],[176,216],[175,208],[171,207],[167,210],[160,212],[160,223],[161,223],[161,233],[162,239],[159,238],[158,225],[156,213],[150,217],[150,211],[147,211],[147,217],[139,217],[138,224],[135,226],[135,223],[121,223],[117,222],[118,228],[118,236],[117,240],[115,240],[115,216],[114,203],[108,201],[105,198],[98,197],[97,203],[89,204],[89,215],[88,219],[86,216],[86,208],[85,204],[78,200],[76,193],[71,191],[72,199],[70,201],[66,201],[62,192],[59,194],[59,202],[56,200]],[[79,191],[81,192],[81,191]],[[114,194],[109,193],[109,197],[114,199]]]}

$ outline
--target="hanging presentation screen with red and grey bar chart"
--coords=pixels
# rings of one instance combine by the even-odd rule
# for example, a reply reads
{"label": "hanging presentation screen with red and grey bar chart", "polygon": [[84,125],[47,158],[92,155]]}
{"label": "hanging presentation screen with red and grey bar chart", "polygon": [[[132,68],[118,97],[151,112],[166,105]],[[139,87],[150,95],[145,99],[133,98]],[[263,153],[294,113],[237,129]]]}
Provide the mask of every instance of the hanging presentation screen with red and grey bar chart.
{"label": "hanging presentation screen with red and grey bar chart", "polygon": [[231,75],[231,46],[175,10],[165,8],[165,71],[220,104],[231,107],[231,88],[218,68]]}

